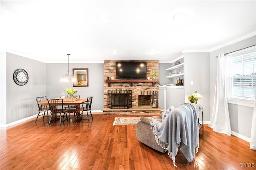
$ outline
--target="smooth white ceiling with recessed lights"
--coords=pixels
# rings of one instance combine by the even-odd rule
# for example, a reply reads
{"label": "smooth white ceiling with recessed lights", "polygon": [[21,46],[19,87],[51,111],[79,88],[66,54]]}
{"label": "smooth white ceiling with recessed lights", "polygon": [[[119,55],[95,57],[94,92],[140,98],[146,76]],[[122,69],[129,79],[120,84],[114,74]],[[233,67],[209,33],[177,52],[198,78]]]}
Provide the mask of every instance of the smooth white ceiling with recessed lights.
{"label": "smooth white ceiling with recessed lights", "polygon": [[[1,0],[0,5],[0,50],[46,63],[67,62],[67,53],[70,63],[171,61],[184,50],[209,52],[256,31],[255,0]],[[181,12],[187,18],[173,20]],[[98,20],[99,13],[109,19]]]}

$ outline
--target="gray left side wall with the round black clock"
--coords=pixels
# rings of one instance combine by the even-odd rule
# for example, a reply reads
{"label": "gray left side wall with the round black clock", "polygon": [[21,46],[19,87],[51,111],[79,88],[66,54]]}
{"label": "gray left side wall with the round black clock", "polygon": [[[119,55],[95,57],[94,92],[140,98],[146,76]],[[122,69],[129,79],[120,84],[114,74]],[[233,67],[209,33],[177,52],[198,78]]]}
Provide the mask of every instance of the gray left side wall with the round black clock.
{"label": "gray left side wall with the round black clock", "polygon": [[[18,86],[13,80],[13,73],[18,68],[28,72],[28,83],[24,86]],[[36,97],[46,95],[45,73],[45,63],[6,53],[7,124],[38,113]]]}

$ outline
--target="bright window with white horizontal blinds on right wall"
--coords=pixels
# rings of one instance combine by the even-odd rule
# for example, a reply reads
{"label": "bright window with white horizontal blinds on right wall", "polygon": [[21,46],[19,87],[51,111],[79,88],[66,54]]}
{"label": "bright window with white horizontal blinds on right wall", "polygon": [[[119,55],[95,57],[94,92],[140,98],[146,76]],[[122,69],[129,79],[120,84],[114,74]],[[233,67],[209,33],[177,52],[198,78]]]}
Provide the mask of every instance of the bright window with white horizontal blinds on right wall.
{"label": "bright window with white horizontal blinds on right wall", "polygon": [[255,100],[256,52],[229,56],[227,74],[227,97]]}

